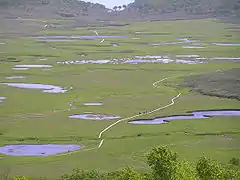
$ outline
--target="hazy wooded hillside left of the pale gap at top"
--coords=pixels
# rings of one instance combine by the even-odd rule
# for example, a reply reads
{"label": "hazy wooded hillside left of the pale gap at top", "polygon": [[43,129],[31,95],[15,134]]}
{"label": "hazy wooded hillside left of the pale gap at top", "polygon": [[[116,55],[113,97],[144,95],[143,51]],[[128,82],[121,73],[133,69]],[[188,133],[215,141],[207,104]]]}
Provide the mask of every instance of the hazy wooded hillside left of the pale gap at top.
{"label": "hazy wooded hillside left of the pale gap at top", "polygon": [[0,0],[0,16],[5,17],[99,17],[106,11],[101,4],[78,0]]}

